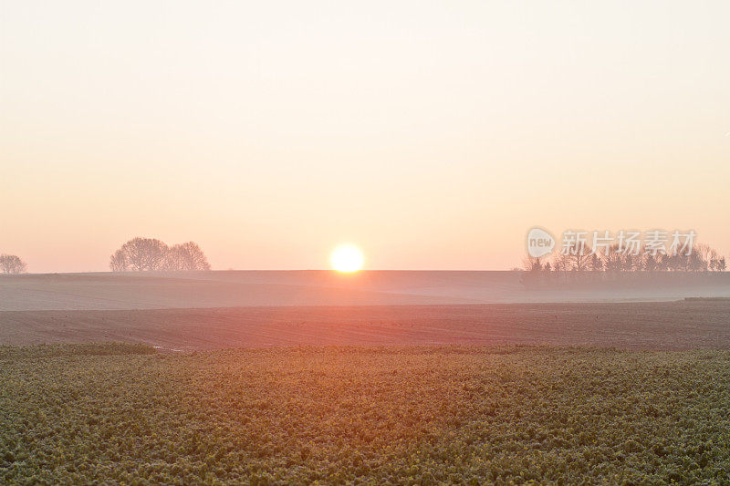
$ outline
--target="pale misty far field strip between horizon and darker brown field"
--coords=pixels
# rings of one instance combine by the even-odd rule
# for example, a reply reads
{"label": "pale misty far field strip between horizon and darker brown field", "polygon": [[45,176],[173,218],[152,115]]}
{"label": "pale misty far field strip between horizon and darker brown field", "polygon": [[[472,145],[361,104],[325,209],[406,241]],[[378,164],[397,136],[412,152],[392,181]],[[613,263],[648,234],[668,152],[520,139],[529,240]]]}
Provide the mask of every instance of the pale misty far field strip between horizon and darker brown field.
{"label": "pale misty far field strip between horizon and darker brown field", "polygon": [[730,274],[528,288],[522,272],[214,271],[0,275],[0,310],[662,301],[730,295]]}

